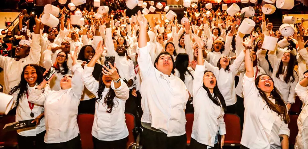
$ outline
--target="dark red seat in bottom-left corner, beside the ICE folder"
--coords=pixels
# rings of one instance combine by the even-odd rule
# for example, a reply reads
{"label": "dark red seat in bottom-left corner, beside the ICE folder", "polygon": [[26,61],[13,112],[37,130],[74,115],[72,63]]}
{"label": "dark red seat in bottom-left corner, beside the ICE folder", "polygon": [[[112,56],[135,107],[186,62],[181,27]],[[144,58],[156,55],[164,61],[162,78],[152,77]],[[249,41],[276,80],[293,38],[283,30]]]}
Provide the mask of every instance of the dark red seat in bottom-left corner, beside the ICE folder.
{"label": "dark red seat in bottom-left corner, beside the ICE folder", "polygon": [[3,115],[0,119],[0,148],[1,147],[17,147],[17,132],[3,132],[2,129],[8,123],[15,122],[15,115]]}

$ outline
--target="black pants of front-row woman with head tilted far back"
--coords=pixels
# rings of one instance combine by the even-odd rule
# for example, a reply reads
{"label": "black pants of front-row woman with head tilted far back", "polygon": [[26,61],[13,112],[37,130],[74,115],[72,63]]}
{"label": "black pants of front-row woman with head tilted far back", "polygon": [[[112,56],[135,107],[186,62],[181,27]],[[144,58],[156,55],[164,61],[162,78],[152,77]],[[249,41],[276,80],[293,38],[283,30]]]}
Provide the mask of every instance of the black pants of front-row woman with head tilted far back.
{"label": "black pants of front-row woman with head tilted far back", "polygon": [[80,135],[67,142],[46,143],[46,149],[81,149]]}

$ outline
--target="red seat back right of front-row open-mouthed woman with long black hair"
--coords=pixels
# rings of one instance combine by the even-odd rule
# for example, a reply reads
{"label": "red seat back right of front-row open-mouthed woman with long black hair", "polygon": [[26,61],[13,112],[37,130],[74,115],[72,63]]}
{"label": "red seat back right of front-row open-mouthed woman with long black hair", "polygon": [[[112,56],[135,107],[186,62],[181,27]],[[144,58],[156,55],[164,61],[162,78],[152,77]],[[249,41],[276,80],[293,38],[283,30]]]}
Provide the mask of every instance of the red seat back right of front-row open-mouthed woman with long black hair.
{"label": "red seat back right of front-row open-mouthed woman with long black hair", "polygon": [[225,145],[240,145],[241,143],[241,121],[235,114],[225,114],[226,123]]}

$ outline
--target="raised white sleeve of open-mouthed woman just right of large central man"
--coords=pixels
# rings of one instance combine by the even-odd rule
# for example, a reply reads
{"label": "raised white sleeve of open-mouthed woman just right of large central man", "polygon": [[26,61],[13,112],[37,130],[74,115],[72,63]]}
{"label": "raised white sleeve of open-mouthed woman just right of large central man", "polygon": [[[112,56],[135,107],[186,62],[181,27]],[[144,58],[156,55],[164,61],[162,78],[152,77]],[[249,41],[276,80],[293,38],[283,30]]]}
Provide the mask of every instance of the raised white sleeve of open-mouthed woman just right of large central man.
{"label": "raised white sleeve of open-mouthed woman just right of large central man", "polygon": [[203,86],[203,76],[204,76],[205,66],[196,65],[195,76],[193,79],[193,97],[196,97],[197,93],[202,90]]}

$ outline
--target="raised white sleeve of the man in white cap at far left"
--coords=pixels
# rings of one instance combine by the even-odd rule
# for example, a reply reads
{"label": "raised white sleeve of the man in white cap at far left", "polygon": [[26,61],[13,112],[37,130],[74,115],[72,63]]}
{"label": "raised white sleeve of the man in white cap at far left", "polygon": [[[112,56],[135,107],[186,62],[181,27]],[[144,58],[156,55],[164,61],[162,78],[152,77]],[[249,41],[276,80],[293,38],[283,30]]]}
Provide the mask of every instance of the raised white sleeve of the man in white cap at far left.
{"label": "raised white sleeve of the man in white cap at far left", "polygon": [[32,44],[30,48],[30,53],[26,57],[27,63],[39,64],[39,60],[41,57],[41,46],[39,45],[40,34],[32,34]]}

